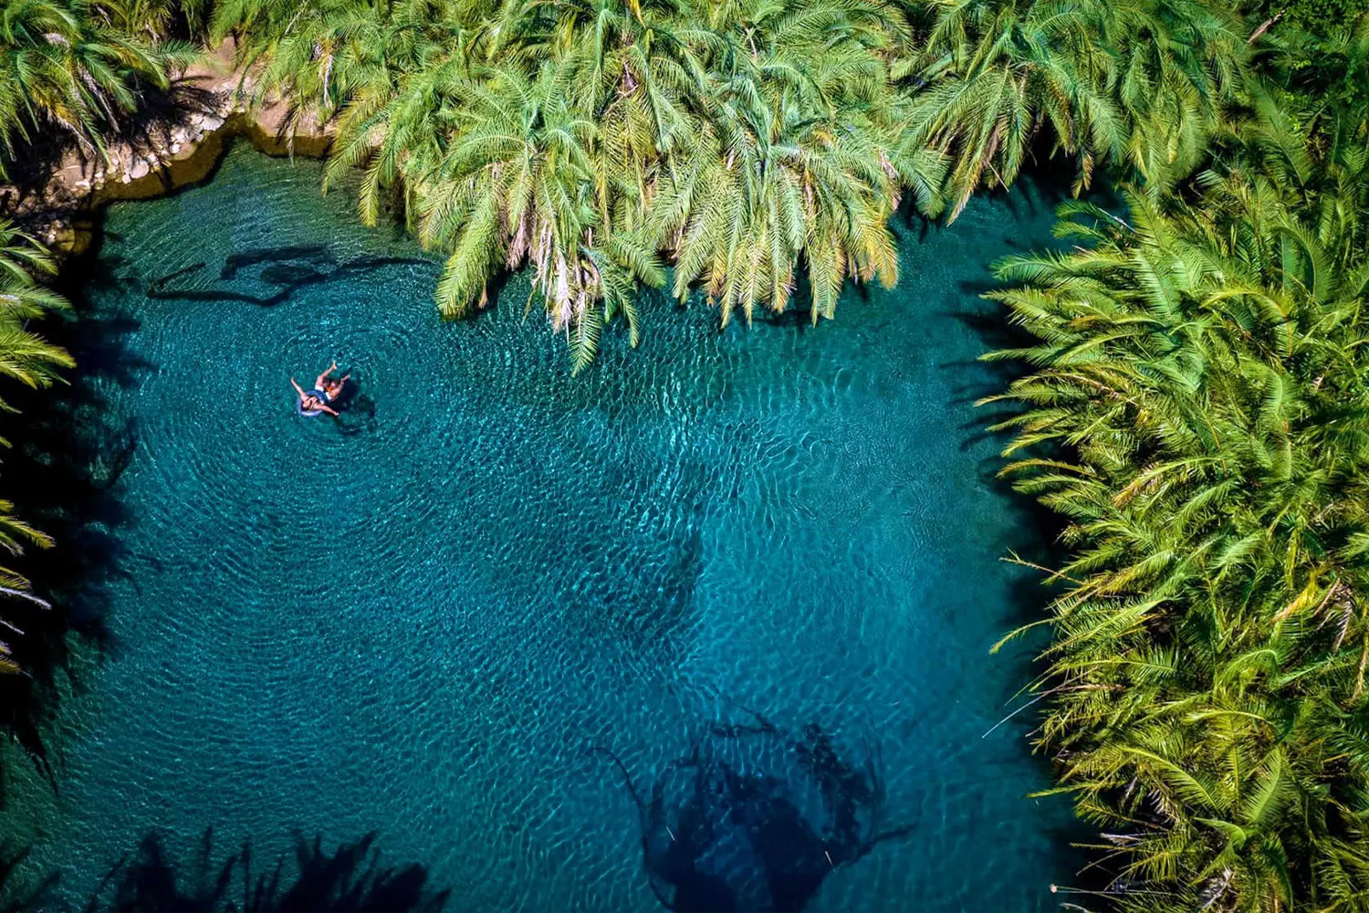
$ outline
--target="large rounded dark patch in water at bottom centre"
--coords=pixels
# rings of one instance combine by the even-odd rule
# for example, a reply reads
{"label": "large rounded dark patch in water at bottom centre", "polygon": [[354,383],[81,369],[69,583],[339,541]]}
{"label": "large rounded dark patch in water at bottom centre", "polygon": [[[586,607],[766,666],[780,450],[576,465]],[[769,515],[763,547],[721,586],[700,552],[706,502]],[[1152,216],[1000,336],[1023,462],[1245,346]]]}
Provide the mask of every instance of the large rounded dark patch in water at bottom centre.
{"label": "large rounded dark patch in water at bottom centre", "polygon": [[676,913],[798,913],[838,866],[912,834],[886,827],[878,758],[842,757],[816,723],[798,735],[752,712],[717,724],[656,775],[638,809],[642,862],[661,906]]}

